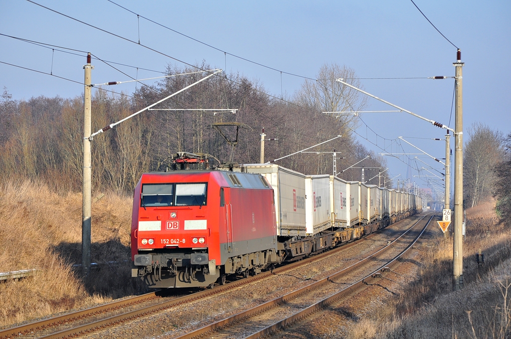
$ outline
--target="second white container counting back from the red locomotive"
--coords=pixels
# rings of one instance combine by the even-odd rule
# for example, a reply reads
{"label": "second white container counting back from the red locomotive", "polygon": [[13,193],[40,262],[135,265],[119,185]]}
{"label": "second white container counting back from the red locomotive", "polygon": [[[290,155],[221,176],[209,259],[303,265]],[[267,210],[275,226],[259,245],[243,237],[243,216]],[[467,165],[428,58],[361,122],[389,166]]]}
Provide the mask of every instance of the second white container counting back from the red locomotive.
{"label": "second white container counting back from the red locomotive", "polygon": [[332,227],[330,175],[305,177],[305,223],[307,235]]}

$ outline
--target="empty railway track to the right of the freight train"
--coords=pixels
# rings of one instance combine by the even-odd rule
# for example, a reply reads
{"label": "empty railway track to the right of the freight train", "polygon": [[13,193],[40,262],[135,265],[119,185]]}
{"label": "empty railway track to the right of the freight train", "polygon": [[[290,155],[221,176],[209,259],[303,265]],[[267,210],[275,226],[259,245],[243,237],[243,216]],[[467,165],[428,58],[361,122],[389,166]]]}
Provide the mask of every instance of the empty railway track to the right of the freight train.
{"label": "empty railway track to the right of the freight train", "polygon": [[[376,279],[390,272],[398,260],[406,254],[433,219],[431,215],[422,230],[417,230],[419,220],[408,231],[393,240],[383,249],[367,256],[327,278],[299,288],[282,297],[275,298],[259,306],[234,314],[231,317],[206,325],[195,331],[180,335],[177,339],[201,338],[259,338],[292,324],[309,314],[317,312],[332,303],[346,298]],[[403,246],[403,243],[408,243]],[[392,259],[381,265],[379,261],[391,256]],[[375,270],[375,266],[378,267]],[[369,274],[364,274],[367,272]],[[357,277],[353,283],[345,283],[341,278],[347,275]],[[347,285],[347,286],[346,286]]]}

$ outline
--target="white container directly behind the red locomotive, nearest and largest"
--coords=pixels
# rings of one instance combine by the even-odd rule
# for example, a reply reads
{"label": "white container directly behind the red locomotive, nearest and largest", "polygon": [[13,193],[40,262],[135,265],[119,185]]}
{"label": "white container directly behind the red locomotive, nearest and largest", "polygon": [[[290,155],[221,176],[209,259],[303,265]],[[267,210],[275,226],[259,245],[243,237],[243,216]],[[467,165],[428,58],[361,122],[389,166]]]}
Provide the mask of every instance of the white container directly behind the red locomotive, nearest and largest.
{"label": "white container directly behind the red locomotive, nearest and largest", "polygon": [[275,164],[245,164],[243,171],[264,176],[273,187],[277,235],[306,236],[305,175]]}

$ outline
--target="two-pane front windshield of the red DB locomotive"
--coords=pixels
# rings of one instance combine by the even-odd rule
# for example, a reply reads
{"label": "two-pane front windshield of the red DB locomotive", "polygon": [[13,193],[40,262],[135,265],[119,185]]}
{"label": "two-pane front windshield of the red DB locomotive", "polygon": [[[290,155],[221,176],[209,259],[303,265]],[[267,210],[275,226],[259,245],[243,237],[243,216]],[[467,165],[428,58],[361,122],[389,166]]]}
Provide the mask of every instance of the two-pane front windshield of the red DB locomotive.
{"label": "two-pane front windshield of the red DB locomotive", "polygon": [[141,207],[204,206],[206,183],[143,184]]}

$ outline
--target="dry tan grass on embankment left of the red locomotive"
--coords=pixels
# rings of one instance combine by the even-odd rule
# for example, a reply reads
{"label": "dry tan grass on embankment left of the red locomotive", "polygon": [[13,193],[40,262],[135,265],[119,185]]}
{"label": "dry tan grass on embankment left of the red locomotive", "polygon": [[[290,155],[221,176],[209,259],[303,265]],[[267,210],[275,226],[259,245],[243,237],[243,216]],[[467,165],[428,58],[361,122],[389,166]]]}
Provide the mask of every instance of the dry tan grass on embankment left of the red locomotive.
{"label": "dry tan grass on embankment left of the red locomotive", "polygon": [[[93,198],[94,202],[94,198]],[[0,283],[0,326],[139,292],[130,278],[131,203],[113,193],[92,204],[92,261],[117,261],[81,277],[81,193],[30,181],[0,185],[0,272],[37,275]]]}

